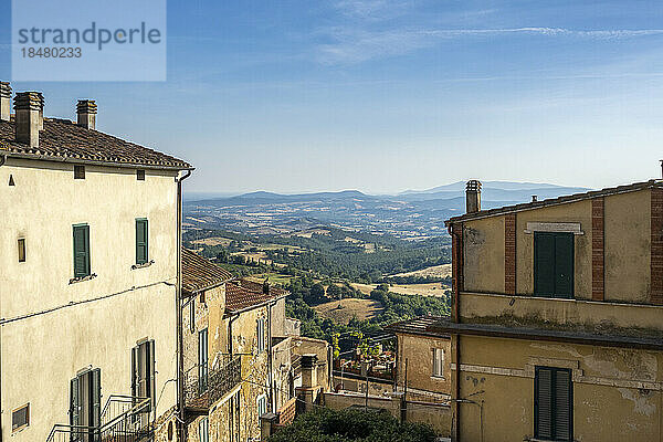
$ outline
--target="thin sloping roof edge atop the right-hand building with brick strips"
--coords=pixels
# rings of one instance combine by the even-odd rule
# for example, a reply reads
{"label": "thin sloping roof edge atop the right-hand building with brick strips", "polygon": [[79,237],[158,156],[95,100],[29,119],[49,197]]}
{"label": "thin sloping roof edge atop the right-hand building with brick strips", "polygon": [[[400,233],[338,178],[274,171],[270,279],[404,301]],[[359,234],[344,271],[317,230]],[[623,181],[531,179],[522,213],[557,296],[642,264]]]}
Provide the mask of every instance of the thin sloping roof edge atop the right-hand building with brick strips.
{"label": "thin sloping roof edge atop the right-hand building with brick strips", "polygon": [[649,180],[649,181],[643,181],[643,182],[634,182],[632,185],[609,187],[609,188],[601,189],[601,190],[591,190],[589,192],[573,193],[573,194],[562,196],[562,197],[558,197],[558,198],[548,198],[546,200],[540,200],[540,201],[532,201],[532,202],[514,204],[514,206],[504,206],[501,208],[490,209],[490,210],[480,210],[478,212],[465,213],[465,214],[450,218],[449,220],[444,221],[444,225],[449,227],[450,224],[453,224],[454,222],[476,220],[476,219],[488,218],[488,217],[496,217],[496,215],[506,214],[506,213],[520,212],[524,210],[533,210],[533,209],[538,209],[538,208],[548,207],[548,206],[566,204],[566,203],[588,200],[588,199],[592,199],[592,198],[608,197],[608,196],[618,194],[618,193],[634,192],[638,190],[644,190],[644,189],[651,189],[651,188],[663,188],[663,181]]}

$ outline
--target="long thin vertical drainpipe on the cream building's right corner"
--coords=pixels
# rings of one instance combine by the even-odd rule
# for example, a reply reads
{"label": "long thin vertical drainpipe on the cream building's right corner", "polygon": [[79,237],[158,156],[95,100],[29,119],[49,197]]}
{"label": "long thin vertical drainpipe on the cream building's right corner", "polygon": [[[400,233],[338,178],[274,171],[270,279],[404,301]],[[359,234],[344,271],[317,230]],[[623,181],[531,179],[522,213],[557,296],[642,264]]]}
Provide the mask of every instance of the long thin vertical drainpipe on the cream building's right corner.
{"label": "long thin vertical drainpipe on the cream building's right corner", "polygon": [[182,181],[191,176],[191,170],[187,170],[180,178],[175,178],[177,182],[177,287],[176,287],[176,318],[177,318],[177,402],[178,402],[178,441],[186,440],[185,425],[185,339],[182,336]]}

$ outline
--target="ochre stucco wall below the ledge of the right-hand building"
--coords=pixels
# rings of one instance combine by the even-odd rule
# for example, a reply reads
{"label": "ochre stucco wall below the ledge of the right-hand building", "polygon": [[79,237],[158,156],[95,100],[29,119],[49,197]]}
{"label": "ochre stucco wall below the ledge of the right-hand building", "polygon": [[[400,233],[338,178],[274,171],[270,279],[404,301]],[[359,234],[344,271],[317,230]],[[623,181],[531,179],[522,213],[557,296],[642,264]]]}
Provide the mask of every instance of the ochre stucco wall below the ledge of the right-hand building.
{"label": "ochre stucco wall below the ledge of the right-hand building", "polygon": [[661,440],[661,352],[463,336],[461,355],[463,440],[534,435],[536,366],[572,369],[575,440]]}

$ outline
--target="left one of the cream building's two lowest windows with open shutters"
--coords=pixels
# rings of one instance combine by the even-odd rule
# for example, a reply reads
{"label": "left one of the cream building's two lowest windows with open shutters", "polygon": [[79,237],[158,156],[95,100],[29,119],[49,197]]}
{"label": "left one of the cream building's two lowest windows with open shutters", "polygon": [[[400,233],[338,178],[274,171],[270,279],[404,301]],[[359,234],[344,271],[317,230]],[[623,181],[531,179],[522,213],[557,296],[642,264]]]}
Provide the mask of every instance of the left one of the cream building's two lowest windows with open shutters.
{"label": "left one of the cream building's two lowest windows with open shutters", "polygon": [[[70,424],[99,427],[102,421],[102,370],[85,370],[70,382]],[[92,430],[90,438],[92,438]],[[86,441],[81,433],[73,433],[72,441]]]}

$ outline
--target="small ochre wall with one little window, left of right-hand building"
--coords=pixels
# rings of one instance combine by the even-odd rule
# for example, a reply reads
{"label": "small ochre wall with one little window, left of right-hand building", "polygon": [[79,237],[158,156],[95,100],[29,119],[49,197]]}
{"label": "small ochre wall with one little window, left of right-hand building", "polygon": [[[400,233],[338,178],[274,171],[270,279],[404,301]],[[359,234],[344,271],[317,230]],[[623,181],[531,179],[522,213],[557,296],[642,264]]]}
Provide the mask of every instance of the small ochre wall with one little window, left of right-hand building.
{"label": "small ochre wall with one little window, left of right-hand building", "polygon": [[[418,335],[401,335],[398,338],[398,378],[399,389],[406,381],[406,360],[408,361],[408,389],[418,389],[435,393],[451,392],[451,340]],[[433,376],[433,349],[444,350],[443,377]]]}

